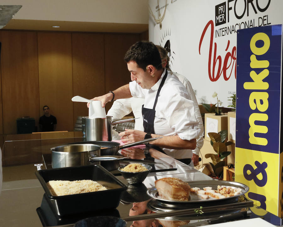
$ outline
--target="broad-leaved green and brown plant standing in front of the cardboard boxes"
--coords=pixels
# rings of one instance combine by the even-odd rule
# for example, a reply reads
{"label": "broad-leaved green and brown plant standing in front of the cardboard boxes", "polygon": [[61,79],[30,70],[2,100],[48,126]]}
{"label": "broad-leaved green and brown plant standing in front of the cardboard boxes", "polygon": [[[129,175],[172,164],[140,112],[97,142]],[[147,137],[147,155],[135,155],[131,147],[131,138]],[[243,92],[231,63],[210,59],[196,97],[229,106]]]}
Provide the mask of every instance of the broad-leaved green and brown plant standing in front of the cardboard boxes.
{"label": "broad-leaved green and brown plant standing in front of the cardboard boxes", "polygon": [[231,153],[230,151],[227,151],[227,146],[231,145],[232,142],[225,142],[228,136],[227,130],[222,130],[218,133],[209,132],[208,136],[210,137],[210,144],[217,154],[206,154],[205,158],[211,158],[212,163],[210,162],[210,165],[216,178],[220,179],[223,174],[223,167],[225,166],[225,161],[223,161],[223,159]]}

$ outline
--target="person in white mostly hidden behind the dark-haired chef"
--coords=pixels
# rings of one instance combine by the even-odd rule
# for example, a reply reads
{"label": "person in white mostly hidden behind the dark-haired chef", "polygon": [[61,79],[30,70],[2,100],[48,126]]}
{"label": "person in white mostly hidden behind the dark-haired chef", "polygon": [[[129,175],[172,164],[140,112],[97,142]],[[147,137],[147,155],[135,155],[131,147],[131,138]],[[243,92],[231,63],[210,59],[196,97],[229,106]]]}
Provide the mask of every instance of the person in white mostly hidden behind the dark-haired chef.
{"label": "person in white mostly hidden behind the dark-haired chef", "polygon": [[[156,45],[160,58],[162,61],[162,67],[166,68],[167,70],[171,71],[170,66],[169,66],[169,61],[170,58],[168,56],[168,52],[161,46]],[[192,162],[194,165],[198,163],[198,158],[199,158],[199,152],[200,149],[203,147],[203,133],[204,133],[204,128],[203,128],[203,119],[198,107],[197,103],[197,98],[195,96],[195,93],[192,89],[191,83],[189,80],[187,80],[184,76],[174,73],[175,76],[181,81],[181,83],[186,87],[190,99],[194,102],[194,108],[195,108],[195,115],[197,118],[198,122],[198,128],[200,129],[199,131],[199,136],[197,138],[197,147],[195,150],[193,150],[193,156],[192,156]],[[143,130],[143,125],[142,125],[142,104],[144,103],[143,98],[127,98],[127,99],[118,99],[113,102],[112,107],[108,110],[107,115],[108,116],[113,116],[114,118],[122,118],[125,115],[129,114],[131,111],[133,111],[133,114],[135,118],[139,118],[135,120],[135,129],[136,130]],[[114,131],[113,133],[117,133]]]}

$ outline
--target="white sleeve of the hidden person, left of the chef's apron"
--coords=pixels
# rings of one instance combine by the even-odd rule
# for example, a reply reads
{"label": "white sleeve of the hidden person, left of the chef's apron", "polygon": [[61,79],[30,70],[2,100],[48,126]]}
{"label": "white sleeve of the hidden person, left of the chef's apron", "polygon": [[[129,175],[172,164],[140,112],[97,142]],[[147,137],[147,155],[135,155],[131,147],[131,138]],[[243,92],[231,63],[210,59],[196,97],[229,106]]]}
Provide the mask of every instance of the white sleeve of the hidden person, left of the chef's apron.
{"label": "white sleeve of the hidden person, left of the chef's apron", "polygon": [[133,111],[135,116],[135,129],[143,131],[142,105],[143,98],[123,98],[113,102],[112,107],[108,110],[107,116],[113,116],[113,119],[121,119]]}

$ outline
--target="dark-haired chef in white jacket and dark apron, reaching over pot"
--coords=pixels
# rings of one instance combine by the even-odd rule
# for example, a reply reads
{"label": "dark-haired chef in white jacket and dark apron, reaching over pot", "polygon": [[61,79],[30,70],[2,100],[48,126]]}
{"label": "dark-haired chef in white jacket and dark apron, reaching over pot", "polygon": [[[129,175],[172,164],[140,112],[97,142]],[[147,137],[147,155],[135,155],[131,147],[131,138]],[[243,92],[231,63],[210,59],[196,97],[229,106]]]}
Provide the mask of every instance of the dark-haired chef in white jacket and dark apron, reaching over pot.
{"label": "dark-haired chef in white jacket and dark apron, reaching over pot", "polygon": [[161,151],[167,155],[189,164],[199,129],[193,102],[185,86],[172,72],[162,67],[158,49],[152,42],[136,42],[125,54],[124,60],[132,81],[92,100],[100,100],[105,107],[107,102],[114,99],[144,98],[144,131],[121,132],[122,142],[163,136],[150,144],[162,147]]}

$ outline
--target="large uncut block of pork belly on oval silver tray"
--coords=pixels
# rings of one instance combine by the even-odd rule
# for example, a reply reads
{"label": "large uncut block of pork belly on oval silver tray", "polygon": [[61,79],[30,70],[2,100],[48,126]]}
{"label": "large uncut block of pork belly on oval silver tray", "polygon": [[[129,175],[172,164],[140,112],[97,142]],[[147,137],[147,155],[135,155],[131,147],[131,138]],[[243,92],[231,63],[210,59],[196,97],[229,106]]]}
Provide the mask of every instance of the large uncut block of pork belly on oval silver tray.
{"label": "large uncut block of pork belly on oval silver tray", "polygon": [[173,177],[165,177],[155,181],[158,194],[163,199],[188,201],[191,187],[188,183]]}

